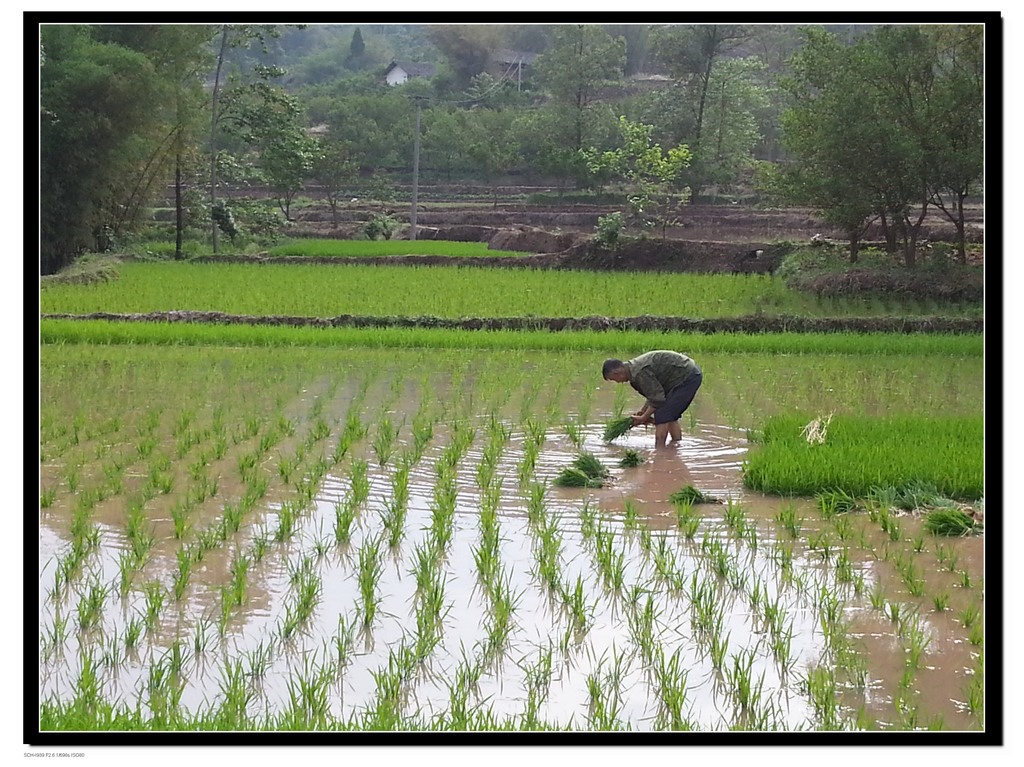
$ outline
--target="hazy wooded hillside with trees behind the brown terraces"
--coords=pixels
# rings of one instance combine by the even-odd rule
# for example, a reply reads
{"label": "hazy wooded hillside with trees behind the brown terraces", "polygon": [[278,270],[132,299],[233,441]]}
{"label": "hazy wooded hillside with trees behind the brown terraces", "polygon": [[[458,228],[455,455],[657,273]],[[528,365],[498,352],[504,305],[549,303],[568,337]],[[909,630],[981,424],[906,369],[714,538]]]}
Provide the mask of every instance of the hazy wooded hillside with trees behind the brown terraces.
{"label": "hazy wooded hillside with trees behind the brown terraces", "polygon": [[[418,109],[424,180],[614,191],[644,218],[654,193],[756,195],[821,211],[851,259],[881,222],[913,265],[937,209],[963,260],[982,175],[982,24],[40,33],[43,273],[116,249],[156,201],[171,201],[180,257],[190,239],[271,238],[300,193],[335,210],[353,188],[386,200],[410,179]],[[389,86],[393,60],[435,74]],[[655,150],[672,162],[645,167]],[[606,153],[617,162],[594,162]]]}

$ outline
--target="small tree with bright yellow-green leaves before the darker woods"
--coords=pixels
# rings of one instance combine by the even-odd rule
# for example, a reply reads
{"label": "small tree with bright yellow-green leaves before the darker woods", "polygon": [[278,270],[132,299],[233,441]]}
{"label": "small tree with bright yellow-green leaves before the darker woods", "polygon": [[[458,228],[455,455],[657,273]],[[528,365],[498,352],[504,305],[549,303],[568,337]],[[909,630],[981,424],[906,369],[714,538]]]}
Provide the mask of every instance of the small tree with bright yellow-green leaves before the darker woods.
{"label": "small tree with bright yellow-green leaves before the darker woods", "polygon": [[618,119],[622,145],[608,152],[591,147],[583,152],[591,172],[606,174],[626,184],[630,219],[645,226],[659,226],[662,237],[670,223],[673,190],[690,163],[685,145],[668,152],[651,141],[653,126]]}

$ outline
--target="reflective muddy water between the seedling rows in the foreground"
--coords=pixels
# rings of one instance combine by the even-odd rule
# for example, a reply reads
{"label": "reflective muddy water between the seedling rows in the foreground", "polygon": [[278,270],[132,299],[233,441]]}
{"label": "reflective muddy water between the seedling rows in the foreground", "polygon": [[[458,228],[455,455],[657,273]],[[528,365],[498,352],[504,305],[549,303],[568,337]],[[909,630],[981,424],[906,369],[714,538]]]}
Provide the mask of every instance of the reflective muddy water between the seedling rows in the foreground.
{"label": "reflective muddy water between the seedling rows in the foreground", "polygon": [[[396,422],[401,420],[402,414],[394,415]],[[411,414],[408,417],[412,419]],[[823,519],[807,501],[793,502],[803,527],[800,537],[792,539],[775,519],[784,502],[742,487],[745,433],[715,423],[698,421],[684,428],[681,442],[662,451],[652,449],[650,431],[635,430],[607,445],[601,440],[603,424],[586,425],[583,448],[606,466],[616,467],[625,448],[637,449],[647,459],[635,468],[613,468],[609,482],[598,489],[551,486],[578,449],[566,435],[554,428],[549,430],[532,481],[547,487],[547,513],[559,519],[560,579],[566,584],[578,580],[584,584],[591,616],[585,635],[567,639],[563,639],[567,627],[564,610],[535,574],[538,534],[527,520],[529,489],[519,485],[517,474],[526,435],[513,431],[497,474],[503,487],[500,561],[512,593],[517,595],[514,630],[502,650],[487,652],[488,599],[474,562],[474,547],[480,541],[481,506],[474,478],[484,443],[484,420],[479,419],[475,426],[476,438],[459,466],[455,530],[441,563],[447,607],[443,638],[403,685],[408,713],[430,721],[450,711],[452,685],[460,668],[474,668],[479,678],[470,695],[471,705],[489,707],[499,721],[522,714],[527,706],[526,669],[550,651],[550,683],[537,709],[541,721],[591,727],[589,717],[594,709],[588,690],[597,682],[613,701],[620,726],[640,730],[662,726],[658,685],[630,629],[627,595],[632,587],[639,587],[652,600],[655,610],[651,629],[654,644],[665,657],[675,655],[686,672],[683,708],[692,728],[751,726],[750,711],[737,702],[737,683],[732,674],[744,658],[750,662],[757,693],[753,708],[759,713],[758,728],[816,726],[813,699],[801,680],[810,669],[834,663],[821,626],[822,593],[837,595],[841,600],[850,646],[866,669],[860,683],[845,677],[838,679],[837,694],[847,726],[856,721],[858,710],[860,721],[881,728],[924,727],[936,720],[946,729],[979,726],[966,701],[967,690],[977,674],[980,645],[972,644],[964,613],[972,608],[983,611],[983,539],[945,541],[926,536],[921,551],[915,552],[914,541],[921,540],[922,534],[920,520],[912,516],[902,519],[901,540],[893,542],[863,513],[848,515],[848,525],[837,530],[836,521]],[[48,659],[41,665],[42,695],[72,697],[80,652],[92,648],[98,658],[105,657],[105,694],[128,702],[136,698],[145,702],[152,669],[166,661],[168,648],[177,639],[190,648],[180,700],[188,711],[206,710],[221,699],[221,681],[231,659],[251,664],[261,653],[266,655],[267,665],[253,679],[251,716],[270,716],[287,710],[296,679],[323,669],[328,669],[331,677],[328,699],[333,716],[349,719],[372,709],[379,694],[375,675],[388,668],[389,659],[402,645],[415,642],[415,552],[428,540],[437,460],[449,438],[442,425],[435,427],[433,440],[411,471],[404,537],[395,550],[384,548],[377,619],[369,630],[354,632],[343,665],[336,664],[337,641],[345,635],[344,626],[359,622],[359,552],[381,536],[381,513],[392,494],[394,466],[376,465],[369,444],[364,443],[359,450],[369,462],[370,497],[353,524],[350,542],[333,545],[336,509],[350,491],[346,461],[321,482],[312,508],[298,520],[292,539],[272,544],[265,558],[250,566],[245,602],[232,611],[223,634],[218,632],[217,624],[221,588],[230,581],[231,561],[249,550],[261,531],[275,529],[283,494],[268,495],[233,539],[207,552],[195,567],[186,596],[180,602],[167,597],[159,620],[143,632],[134,649],[124,647],[123,637],[129,624],[146,612],[146,597],[138,585],[124,596],[111,589],[98,629],[79,633],[74,627],[76,607],[87,584],[118,583],[118,557],[128,544],[117,512],[109,509],[97,513],[95,521],[102,545],[91,560],[91,576],[62,600],[51,598],[50,590],[53,558],[68,545],[67,522],[58,523],[44,515],[40,553],[41,561],[49,561],[49,565],[44,566],[40,578],[41,626],[44,636],[58,617],[68,620],[71,628],[62,649],[48,653]],[[399,449],[408,445],[409,439],[403,432]],[[692,540],[685,538],[668,497],[687,484],[739,504],[746,520],[756,527],[757,545],[730,529],[723,515],[724,504],[695,507],[700,524]],[[231,497],[230,493],[228,487],[222,496]],[[664,537],[679,582],[712,587],[721,614],[718,637],[726,647],[720,663],[716,664],[707,638],[695,628],[693,601],[687,589],[671,588],[658,580],[640,535],[626,525],[627,501],[639,511],[641,524],[650,530],[655,544]],[[593,542],[584,535],[588,506],[598,510],[602,527],[613,531],[612,548],[623,555],[626,588],[617,592],[606,587]],[[203,523],[213,517],[212,512],[205,513]],[[151,554],[143,581],[169,590],[176,569],[177,546],[169,535],[169,511],[157,516],[160,543]],[[849,571],[864,584],[860,593],[849,582],[837,579],[835,554],[823,556],[820,546],[810,544],[815,536],[839,542],[841,532],[848,545]],[[331,545],[322,546],[322,542]],[[703,548],[709,543],[722,544],[744,574],[745,583],[730,584],[716,576]],[[792,551],[792,578],[780,576],[775,561],[780,549]],[[953,555],[955,564],[948,566]],[[915,576],[924,582],[924,587],[918,589],[921,596],[910,593],[895,564],[905,567],[911,560]],[[281,626],[295,598],[294,573],[303,561],[311,563],[319,579],[319,600],[311,621],[285,640],[281,638]],[[965,585],[964,572],[970,585]],[[755,583],[763,590],[759,591],[763,595],[760,600],[751,596]],[[872,604],[872,591],[884,593],[884,607]],[[935,609],[936,594],[946,595],[946,609]],[[787,621],[792,635],[787,664],[780,664],[774,655],[760,616],[767,600]],[[906,637],[901,635],[906,633],[903,625],[886,612],[892,603],[898,604],[904,614],[912,613],[927,637],[920,665],[902,686],[900,680],[907,679],[904,674],[910,651]]]}

